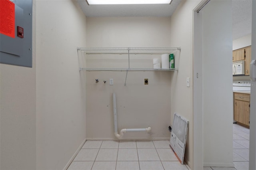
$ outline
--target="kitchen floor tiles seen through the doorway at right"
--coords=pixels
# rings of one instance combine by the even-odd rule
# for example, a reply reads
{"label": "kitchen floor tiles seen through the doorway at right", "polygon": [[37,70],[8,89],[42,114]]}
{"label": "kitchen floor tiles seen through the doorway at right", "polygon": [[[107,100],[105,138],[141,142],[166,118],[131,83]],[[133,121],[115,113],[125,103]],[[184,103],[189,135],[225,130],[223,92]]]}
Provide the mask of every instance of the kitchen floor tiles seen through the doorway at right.
{"label": "kitchen floor tiles seen through the doorway at right", "polygon": [[204,167],[204,170],[249,170],[249,128],[233,124],[233,162],[235,168]]}

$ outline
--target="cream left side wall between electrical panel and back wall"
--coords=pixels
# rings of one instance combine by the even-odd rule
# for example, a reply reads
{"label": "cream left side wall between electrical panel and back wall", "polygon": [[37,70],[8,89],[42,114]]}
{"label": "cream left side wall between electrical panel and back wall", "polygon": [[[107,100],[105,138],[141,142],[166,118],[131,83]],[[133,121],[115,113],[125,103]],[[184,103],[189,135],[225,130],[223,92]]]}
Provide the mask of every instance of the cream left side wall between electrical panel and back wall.
{"label": "cream left side wall between electrical panel and back wall", "polygon": [[85,39],[86,17],[75,1],[36,2],[38,170],[64,169],[85,140],[85,102],[76,51],[86,45]]}

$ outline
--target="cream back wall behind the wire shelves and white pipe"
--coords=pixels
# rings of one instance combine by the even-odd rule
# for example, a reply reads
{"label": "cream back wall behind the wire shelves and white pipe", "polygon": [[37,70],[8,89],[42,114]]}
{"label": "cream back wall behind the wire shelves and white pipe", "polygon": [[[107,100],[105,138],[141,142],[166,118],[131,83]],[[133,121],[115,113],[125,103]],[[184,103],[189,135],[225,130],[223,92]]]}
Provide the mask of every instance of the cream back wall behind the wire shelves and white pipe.
{"label": "cream back wall behind the wire shelves and white pipe", "polygon": [[[87,18],[88,47],[169,47],[170,18]],[[128,55],[88,56],[87,67],[128,67]],[[131,67],[153,67],[153,57],[131,55]],[[98,58],[98,59],[96,59]],[[125,139],[170,139],[170,76],[173,72],[86,72],[86,138],[117,140],[114,136],[112,93],[116,93],[118,130],[152,127],[146,132],[126,133]],[[109,85],[109,79],[114,85]],[[144,85],[148,78],[148,85]],[[99,83],[95,83],[99,79]],[[107,83],[104,84],[103,81]]]}

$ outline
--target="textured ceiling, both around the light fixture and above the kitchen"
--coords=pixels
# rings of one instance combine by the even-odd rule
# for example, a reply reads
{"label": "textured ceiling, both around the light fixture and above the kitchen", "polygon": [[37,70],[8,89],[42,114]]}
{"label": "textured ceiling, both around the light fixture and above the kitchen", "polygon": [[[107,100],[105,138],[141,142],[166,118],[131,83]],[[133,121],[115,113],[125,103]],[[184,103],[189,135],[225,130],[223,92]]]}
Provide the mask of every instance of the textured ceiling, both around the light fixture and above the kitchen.
{"label": "textured ceiling, both around the light fixture and above the kitchen", "polygon": [[[89,5],[85,0],[77,0],[87,17],[124,17],[124,16],[172,16],[182,0],[169,4],[136,5]],[[232,0],[233,40],[252,32],[252,0]]]}

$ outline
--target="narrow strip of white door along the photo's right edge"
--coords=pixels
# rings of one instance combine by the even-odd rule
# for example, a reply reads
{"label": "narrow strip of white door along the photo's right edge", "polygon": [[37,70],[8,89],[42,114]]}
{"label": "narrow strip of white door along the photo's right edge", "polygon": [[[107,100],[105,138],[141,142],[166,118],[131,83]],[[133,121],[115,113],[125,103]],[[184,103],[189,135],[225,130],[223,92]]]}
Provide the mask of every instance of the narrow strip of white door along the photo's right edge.
{"label": "narrow strip of white door along the photo's right edge", "polygon": [[[256,60],[256,1],[252,1],[252,61]],[[256,77],[254,64],[250,76]],[[256,81],[251,81],[249,170],[256,170]]]}

